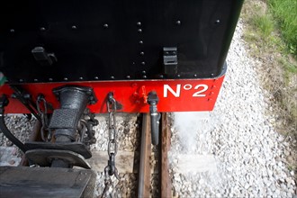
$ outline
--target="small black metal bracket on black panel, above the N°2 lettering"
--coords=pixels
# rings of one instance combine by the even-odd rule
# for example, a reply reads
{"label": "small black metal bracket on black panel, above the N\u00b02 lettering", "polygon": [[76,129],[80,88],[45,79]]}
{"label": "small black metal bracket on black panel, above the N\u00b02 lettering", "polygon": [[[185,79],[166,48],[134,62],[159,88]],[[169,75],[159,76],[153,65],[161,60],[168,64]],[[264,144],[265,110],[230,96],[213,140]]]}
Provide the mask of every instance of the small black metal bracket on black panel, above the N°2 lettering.
{"label": "small black metal bracket on black panel, above the N\u00b02 lettering", "polygon": [[177,74],[177,48],[163,48],[163,65],[166,75]]}

